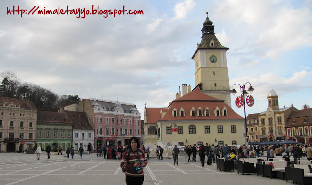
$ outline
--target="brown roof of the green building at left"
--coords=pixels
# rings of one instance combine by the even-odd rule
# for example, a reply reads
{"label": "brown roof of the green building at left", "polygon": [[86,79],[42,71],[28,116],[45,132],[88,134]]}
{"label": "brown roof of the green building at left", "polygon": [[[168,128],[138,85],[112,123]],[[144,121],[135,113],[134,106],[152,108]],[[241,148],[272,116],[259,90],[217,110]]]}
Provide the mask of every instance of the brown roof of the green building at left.
{"label": "brown roof of the green building at left", "polygon": [[64,112],[38,111],[37,122],[72,123],[72,120]]}

